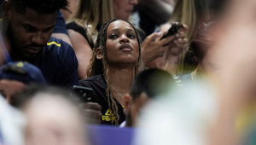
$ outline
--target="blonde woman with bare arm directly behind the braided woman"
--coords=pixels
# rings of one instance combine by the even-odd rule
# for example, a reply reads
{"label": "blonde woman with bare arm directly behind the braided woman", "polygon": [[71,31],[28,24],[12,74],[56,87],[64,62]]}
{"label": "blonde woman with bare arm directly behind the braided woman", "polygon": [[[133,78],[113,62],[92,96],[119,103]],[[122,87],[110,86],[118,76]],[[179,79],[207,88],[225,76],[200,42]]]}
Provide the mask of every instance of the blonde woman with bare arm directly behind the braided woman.
{"label": "blonde woman with bare arm directly behind the braided woman", "polygon": [[79,60],[79,79],[83,79],[102,24],[114,18],[128,20],[137,0],[79,0],[78,3],[78,9],[67,22],[67,31]]}

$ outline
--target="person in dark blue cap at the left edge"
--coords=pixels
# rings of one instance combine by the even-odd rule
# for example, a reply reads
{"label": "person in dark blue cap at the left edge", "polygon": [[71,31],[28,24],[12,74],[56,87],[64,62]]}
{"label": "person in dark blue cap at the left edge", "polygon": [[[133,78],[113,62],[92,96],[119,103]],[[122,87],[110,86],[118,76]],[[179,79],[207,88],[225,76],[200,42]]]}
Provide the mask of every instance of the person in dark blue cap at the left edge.
{"label": "person in dark blue cap at the left edge", "polygon": [[38,67],[18,61],[0,67],[0,92],[8,102],[27,84],[45,85],[46,81]]}

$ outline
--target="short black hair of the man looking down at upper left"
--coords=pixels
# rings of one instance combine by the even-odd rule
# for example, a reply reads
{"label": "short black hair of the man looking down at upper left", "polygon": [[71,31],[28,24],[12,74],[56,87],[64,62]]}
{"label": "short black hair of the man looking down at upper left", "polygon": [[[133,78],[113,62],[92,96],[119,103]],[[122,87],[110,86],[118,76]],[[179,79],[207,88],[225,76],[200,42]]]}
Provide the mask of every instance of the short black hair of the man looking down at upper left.
{"label": "short black hair of the man looking down at upper left", "polygon": [[[67,9],[67,0],[9,0],[20,14],[26,13],[26,8],[33,9],[40,14],[52,14],[59,9]],[[70,11],[69,11],[70,12]]]}

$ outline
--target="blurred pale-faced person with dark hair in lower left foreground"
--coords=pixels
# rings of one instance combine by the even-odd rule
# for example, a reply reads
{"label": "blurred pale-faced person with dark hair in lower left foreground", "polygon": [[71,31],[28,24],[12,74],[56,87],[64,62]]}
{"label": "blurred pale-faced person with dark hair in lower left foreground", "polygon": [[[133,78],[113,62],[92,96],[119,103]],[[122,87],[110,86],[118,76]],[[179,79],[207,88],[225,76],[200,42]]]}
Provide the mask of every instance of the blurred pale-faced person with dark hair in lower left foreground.
{"label": "blurred pale-faced person with dark hair in lower left foreground", "polygon": [[28,88],[15,96],[13,105],[25,113],[25,142],[34,144],[86,145],[85,123],[79,102],[67,90]]}

